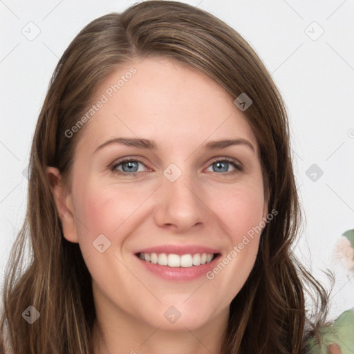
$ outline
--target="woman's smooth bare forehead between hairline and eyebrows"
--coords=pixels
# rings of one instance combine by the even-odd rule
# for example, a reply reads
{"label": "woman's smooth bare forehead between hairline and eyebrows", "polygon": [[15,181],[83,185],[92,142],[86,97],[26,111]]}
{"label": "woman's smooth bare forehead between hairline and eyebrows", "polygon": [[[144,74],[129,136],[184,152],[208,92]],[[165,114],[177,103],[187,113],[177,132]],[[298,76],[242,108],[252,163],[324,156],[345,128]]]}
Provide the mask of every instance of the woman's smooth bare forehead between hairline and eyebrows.
{"label": "woman's smooth bare forehead between hairline and eyebrows", "polygon": [[[95,149],[117,136],[149,138],[164,146],[207,140],[257,140],[233,98],[214,80],[162,57],[122,64],[95,88],[80,145]],[[104,102],[97,109],[98,101]]]}

